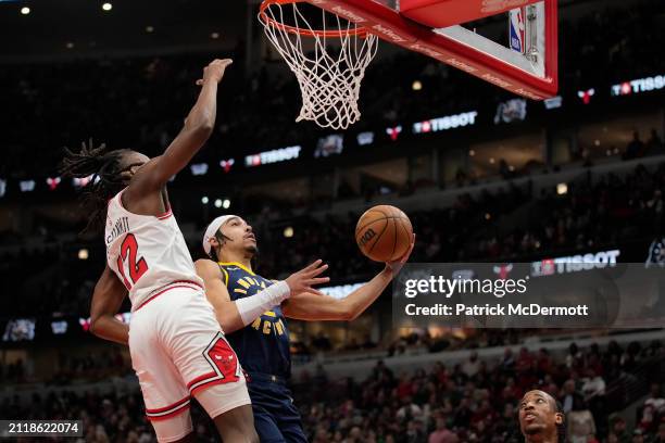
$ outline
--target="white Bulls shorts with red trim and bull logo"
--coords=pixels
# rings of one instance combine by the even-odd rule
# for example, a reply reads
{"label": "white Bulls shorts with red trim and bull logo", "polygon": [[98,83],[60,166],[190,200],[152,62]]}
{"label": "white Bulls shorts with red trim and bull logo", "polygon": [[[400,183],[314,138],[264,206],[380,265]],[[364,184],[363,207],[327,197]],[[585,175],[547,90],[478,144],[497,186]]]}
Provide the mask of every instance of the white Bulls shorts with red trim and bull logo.
{"label": "white Bulls shorts with red trim and bull logo", "polygon": [[191,395],[211,418],[251,404],[238,357],[201,290],[173,288],[139,306],[129,353],[160,442],[192,431]]}

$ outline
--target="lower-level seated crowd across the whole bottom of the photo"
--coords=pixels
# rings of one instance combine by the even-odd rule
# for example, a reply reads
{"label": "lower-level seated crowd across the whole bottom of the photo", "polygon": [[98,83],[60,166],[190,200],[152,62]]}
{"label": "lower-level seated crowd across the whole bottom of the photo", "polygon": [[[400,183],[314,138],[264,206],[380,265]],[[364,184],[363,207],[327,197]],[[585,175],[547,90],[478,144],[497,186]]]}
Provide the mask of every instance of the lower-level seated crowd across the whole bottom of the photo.
{"label": "lower-level seated crowd across the whole bottom of the photo", "polygon": [[[555,357],[506,349],[495,360],[472,352],[462,363],[394,374],[379,360],[364,380],[334,379],[319,367],[294,380],[296,404],[314,443],[522,442],[518,403],[539,389],[559,401],[572,443],[665,441],[665,347],[660,341],[605,347],[570,344]],[[637,387],[627,392],[626,387]],[[629,404],[637,408],[624,410]],[[192,407],[198,441],[215,441],[214,428]],[[617,414],[622,413],[622,414]],[[138,393],[70,391],[0,402],[0,416],[80,419],[79,441],[153,442]]]}

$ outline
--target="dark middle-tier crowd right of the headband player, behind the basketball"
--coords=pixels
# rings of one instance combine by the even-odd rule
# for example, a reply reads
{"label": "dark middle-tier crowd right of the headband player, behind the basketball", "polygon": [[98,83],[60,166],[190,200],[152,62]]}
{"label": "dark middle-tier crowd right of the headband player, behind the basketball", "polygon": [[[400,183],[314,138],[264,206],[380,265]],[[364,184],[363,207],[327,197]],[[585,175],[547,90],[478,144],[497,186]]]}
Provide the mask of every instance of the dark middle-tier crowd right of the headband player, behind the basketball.
{"label": "dark middle-tier crowd right of the headband player, behind the basketball", "polygon": [[[413,262],[515,261],[619,242],[645,241],[663,233],[665,164],[654,170],[637,166],[625,175],[587,176],[535,195],[532,185],[506,183],[499,191],[461,194],[444,210],[412,212],[417,238]],[[323,257],[331,276],[366,276],[371,266],[357,253],[353,232],[359,214],[300,217],[293,237],[280,229],[258,232],[262,275],[285,276]],[[250,223],[252,220],[250,219]],[[289,254],[281,251],[287,246]]]}

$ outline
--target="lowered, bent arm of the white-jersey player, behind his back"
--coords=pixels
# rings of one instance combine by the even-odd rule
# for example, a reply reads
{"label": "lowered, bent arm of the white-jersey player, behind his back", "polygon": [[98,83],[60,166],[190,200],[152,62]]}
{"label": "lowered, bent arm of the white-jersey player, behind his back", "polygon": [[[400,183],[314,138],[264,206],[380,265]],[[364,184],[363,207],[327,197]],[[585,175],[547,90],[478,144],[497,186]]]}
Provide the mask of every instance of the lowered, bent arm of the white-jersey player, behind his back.
{"label": "lowered, bent arm of the white-jersey player, behind his back", "polygon": [[106,266],[92,294],[90,332],[104,340],[127,344],[129,327],[115,318],[126,295],[127,289]]}

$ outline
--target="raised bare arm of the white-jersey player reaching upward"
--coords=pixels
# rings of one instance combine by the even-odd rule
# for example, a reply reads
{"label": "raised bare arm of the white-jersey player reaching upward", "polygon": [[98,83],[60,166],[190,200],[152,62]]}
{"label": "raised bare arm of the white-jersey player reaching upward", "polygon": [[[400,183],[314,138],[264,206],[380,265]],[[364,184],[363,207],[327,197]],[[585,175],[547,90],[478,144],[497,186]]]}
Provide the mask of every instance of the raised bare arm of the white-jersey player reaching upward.
{"label": "raised bare arm of the white-jersey player reaching upward", "polygon": [[161,190],[199,152],[213,131],[217,114],[217,84],[231,63],[229,59],[215,60],[203,69],[203,78],[197,81],[201,92],[185,119],[185,126],[162,155],[152,159],[136,173],[127,192],[140,197]]}

